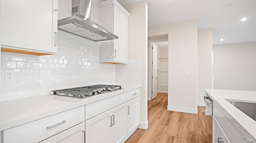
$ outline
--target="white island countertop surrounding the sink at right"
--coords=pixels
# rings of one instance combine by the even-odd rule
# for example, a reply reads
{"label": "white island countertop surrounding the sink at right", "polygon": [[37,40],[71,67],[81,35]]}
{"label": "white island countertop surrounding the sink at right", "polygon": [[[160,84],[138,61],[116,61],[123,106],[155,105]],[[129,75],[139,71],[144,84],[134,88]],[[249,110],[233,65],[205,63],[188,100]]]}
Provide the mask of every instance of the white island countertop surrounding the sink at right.
{"label": "white island countertop surrounding the sink at right", "polygon": [[220,104],[224,110],[226,110],[238,123],[240,123],[248,133],[256,137],[256,121],[226,100],[231,99],[232,101],[239,100],[240,102],[256,102],[256,91],[221,89],[205,89],[205,91],[210,98],[214,100],[213,102],[218,102],[218,104]]}

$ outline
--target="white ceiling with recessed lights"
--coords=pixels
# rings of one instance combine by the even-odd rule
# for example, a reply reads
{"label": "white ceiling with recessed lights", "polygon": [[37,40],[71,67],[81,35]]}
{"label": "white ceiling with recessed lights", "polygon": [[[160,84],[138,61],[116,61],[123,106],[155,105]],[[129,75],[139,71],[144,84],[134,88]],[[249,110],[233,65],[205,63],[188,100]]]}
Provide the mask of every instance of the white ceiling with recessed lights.
{"label": "white ceiling with recessed lights", "polygon": [[[104,0],[102,0],[104,1]],[[143,0],[117,0],[129,4]],[[148,26],[197,20],[212,28],[212,43],[256,41],[256,0],[147,0]],[[233,4],[228,6],[228,4]],[[242,22],[241,19],[247,20]],[[220,41],[223,38],[224,41]]]}

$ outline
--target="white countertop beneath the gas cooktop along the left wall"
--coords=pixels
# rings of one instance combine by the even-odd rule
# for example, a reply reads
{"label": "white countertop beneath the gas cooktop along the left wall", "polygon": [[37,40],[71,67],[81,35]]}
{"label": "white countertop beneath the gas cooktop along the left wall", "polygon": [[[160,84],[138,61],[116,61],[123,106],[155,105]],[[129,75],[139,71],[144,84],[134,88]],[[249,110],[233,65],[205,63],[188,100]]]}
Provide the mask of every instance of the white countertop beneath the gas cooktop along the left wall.
{"label": "white countertop beneath the gas cooktop along the left wall", "polygon": [[0,131],[128,92],[140,88],[140,86],[122,88],[124,89],[84,99],[43,95],[1,102]]}

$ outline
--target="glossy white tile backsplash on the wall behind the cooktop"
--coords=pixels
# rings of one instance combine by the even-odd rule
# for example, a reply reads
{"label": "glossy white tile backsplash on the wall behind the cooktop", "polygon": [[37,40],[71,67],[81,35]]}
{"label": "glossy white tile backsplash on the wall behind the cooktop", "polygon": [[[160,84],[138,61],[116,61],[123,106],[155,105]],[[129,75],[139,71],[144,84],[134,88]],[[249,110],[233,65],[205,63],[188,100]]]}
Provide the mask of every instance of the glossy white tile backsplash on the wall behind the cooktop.
{"label": "glossy white tile backsplash on the wall behind the cooktop", "polygon": [[[4,70],[14,70],[14,81]],[[100,63],[100,45],[58,31],[56,55],[33,56],[1,52],[1,101],[51,94],[52,90],[115,84],[115,65]]]}

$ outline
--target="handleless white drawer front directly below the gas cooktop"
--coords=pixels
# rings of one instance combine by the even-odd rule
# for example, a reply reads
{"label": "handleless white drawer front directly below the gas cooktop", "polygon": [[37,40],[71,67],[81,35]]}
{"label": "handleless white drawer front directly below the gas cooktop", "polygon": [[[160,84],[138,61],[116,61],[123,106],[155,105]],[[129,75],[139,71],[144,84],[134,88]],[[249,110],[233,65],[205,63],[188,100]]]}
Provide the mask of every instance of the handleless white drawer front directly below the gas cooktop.
{"label": "handleless white drawer front directly below the gas cooktop", "polygon": [[124,102],[126,102],[126,93],[87,104],[85,105],[85,120],[106,112]]}

